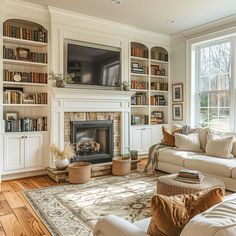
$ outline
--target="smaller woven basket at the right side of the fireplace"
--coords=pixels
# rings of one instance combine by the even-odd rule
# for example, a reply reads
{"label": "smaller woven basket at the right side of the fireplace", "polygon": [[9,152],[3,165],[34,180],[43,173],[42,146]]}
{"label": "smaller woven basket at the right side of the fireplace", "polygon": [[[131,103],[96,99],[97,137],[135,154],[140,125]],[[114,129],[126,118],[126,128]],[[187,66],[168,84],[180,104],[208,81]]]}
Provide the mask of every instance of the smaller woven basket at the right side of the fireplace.
{"label": "smaller woven basket at the right side of the fireplace", "polygon": [[129,157],[116,157],[112,160],[113,175],[127,175],[130,173],[131,159]]}

